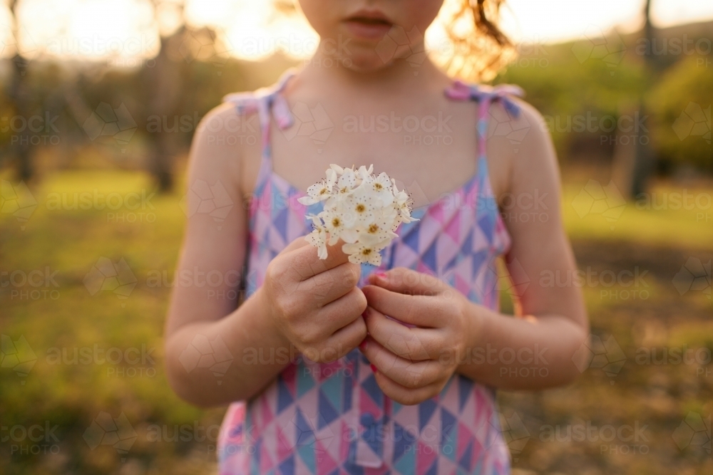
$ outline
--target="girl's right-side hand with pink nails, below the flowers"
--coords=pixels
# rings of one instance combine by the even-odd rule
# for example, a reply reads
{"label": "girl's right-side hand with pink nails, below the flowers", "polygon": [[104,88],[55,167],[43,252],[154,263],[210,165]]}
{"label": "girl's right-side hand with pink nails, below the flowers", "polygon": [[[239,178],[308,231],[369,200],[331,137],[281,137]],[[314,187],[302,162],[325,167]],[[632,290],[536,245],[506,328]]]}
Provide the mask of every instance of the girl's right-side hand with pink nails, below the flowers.
{"label": "girl's right-side hand with pink nails, below the flowers", "polygon": [[377,384],[401,404],[438,395],[477,331],[468,300],[438,278],[403,267],[372,274],[369,283],[362,289],[369,335],[359,349]]}

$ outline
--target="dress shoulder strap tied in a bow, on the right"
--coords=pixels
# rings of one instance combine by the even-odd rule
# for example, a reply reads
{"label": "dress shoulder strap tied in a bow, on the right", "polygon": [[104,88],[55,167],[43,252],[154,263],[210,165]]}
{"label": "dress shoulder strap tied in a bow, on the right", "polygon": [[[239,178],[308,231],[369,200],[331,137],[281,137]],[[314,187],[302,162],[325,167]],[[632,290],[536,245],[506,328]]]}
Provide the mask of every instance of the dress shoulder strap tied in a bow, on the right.
{"label": "dress shoulder strap tied in a bow, on the right", "polygon": [[488,136],[488,109],[496,100],[513,118],[520,115],[520,106],[512,100],[511,96],[522,97],[525,92],[522,88],[512,84],[500,84],[495,87],[487,85],[469,85],[460,80],[453,82],[446,89],[446,97],[453,100],[475,100],[478,102],[478,156],[486,155],[486,137]]}

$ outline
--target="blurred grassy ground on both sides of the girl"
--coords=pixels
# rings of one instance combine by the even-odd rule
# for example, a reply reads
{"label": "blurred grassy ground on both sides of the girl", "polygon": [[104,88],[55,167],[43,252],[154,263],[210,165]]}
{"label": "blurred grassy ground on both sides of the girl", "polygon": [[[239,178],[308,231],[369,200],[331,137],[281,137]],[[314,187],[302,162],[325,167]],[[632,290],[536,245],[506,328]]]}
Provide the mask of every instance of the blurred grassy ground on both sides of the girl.
{"label": "blurred grassy ground on both sides of the girl", "polygon": [[[557,390],[501,393],[503,415],[513,422],[514,466],[538,474],[709,474],[710,455],[695,445],[679,449],[672,434],[689,412],[704,417],[713,412],[712,365],[645,365],[635,357],[642,348],[713,348],[709,298],[699,291],[681,296],[671,283],[688,256],[710,259],[713,226],[697,219],[697,213],[713,215],[713,210],[637,209],[629,203],[610,222],[600,214],[578,214],[572,203],[582,187],[568,184],[563,198],[580,268],[617,272],[639,266],[649,271],[649,296],[624,299],[620,291],[628,289],[622,286],[584,288],[593,334],[602,340],[612,335],[625,354],[625,365],[613,375],[590,368],[574,385]],[[681,190],[662,186],[656,191]],[[26,223],[0,214],[0,271],[7,273],[0,286],[1,333],[12,343],[24,337],[31,349],[24,352],[29,355],[25,359],[36,358],[26,375],[1,369],[2,425],[19,428],[3,434],[15,437],[0,442],[0,470],[211,473],[215,442],[198,440],[195,427],[216,427],[224,408],[196,409],[168,387],[162,331],[171,289],[147,284],[151,271],[173,273],[185,220],[180,194],[150,197],[148,177],[116,171],[51,174],[31,193],[38,206]],[[148,204],[128,209],[125,199],[142,193],[150,197]],[[75,194],[100,201],[111,195],[124,204],[116,210],[72,209]],[[111,290],[88,291],[84,280],[101,257],[128,265],[136,285],[127,298]],[[46,270],[56,275],[39,286],[20,281],[5,285],[12,273],[19,279],[31,271],[45,275]],[[619,293],[603,296],[602,290]],[[4,353],[7,341],[4,337]],[[108,350],[113,362],[104,359]],[[75,351],[91,357],[74,360]],[[133,360],[142,352],[143,360]],[[102,412],[114,418],[125,415],[136,434],[128,453],[111,444],[93,447],[96,441],[85,438]],[[515,425],[513,414],[522,426]],[[646,453],[629,442],[549,442],[543,437],[548,424],[566,428],[587,422],[597,427],[647,425],[647,441],[638,444],[646,446]],[[38,442],[20,437],[33,424],[57,429]],[[183,425],[191,435],[173,442],[175,429]],[[157,426],[165,438],[151,442],[149,434]]]}

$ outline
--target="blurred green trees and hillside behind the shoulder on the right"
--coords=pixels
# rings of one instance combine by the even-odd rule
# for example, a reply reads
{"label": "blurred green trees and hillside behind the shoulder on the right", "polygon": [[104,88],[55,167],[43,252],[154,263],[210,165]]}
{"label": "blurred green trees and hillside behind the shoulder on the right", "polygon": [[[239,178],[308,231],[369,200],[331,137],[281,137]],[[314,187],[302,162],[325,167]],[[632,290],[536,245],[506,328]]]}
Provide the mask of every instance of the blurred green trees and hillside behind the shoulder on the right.
{"label": "blurred green trees and hillside behind the shoulder on the right", "polygon": [[[700,47],[689,53],[678,48],[683,38],[709,45],[712,26],[660,31],[650,63],[637,34],[620,43],[620,58],[582,56],[580,51],[588,50],[581,41],[528,46],[496,83],[515,83],[525,90],[525,100],[545,117],[560,160],[579,155],[610,158],[617,130],[609,130],[609,125],[644,105],[642,124],[660,164],[712,170],[713,54]],[[672,38],[662,38],[666,36]],[[703,43],[695,42],[699,38]],[[578,121],[585,127],[576,127]]]}

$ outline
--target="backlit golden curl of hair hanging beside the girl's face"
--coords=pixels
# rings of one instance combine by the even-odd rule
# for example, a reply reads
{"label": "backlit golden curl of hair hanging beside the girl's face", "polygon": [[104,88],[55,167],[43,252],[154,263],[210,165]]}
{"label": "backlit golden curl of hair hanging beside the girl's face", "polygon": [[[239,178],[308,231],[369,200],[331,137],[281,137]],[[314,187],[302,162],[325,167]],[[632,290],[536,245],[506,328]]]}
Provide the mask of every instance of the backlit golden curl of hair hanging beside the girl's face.
{"label": "backlit golden curl of hair hanging beside the girl's face", "polygon": [[498,28],[505,0],[446,0],[441,14],[452,51],[443,58],[449,75],[491,80],[515,57],[515,48]]}

